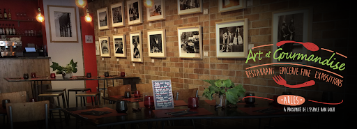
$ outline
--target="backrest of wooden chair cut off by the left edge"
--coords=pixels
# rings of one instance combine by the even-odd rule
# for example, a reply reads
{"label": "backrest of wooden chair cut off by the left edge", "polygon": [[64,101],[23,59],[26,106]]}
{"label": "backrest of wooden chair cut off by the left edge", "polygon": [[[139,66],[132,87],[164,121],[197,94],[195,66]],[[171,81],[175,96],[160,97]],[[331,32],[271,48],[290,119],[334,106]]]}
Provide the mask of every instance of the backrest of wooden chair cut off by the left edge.
{"label": "backrest of wooden chair cut off by the left edge", "polygon": [[0,100],[10,100],[10,103],[25,103],[27,101],[26,91],[0,93]]}

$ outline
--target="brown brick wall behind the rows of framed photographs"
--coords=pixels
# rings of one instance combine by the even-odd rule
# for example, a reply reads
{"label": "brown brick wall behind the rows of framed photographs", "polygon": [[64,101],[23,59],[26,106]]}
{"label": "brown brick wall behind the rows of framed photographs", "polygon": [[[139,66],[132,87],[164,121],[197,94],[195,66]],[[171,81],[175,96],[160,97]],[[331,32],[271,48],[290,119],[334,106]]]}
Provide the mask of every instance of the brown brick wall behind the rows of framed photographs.
{"label": "brown brick wall behind the rows of framed photographs", "polygon": [[[350,8],[344,8],[344,3],[307,0],[252,0],[252,6],[248,6],[245,9],[218,13],[217,0],[204,0],[203,8],[208,9],[208,14],[177,15],[176,1],[167,0],[165,6],[166,20],[153,21],[151,22],[151,26],[149,26],[149,22],[146,21],[146,7],[142,5],[144,20],[142,24],[132,25],[132,29],[126,24],[126,26],[116,27],[117,31],[114,31],[109,22],[109,29],[98,30],[96,10],[105,7],[110,8],[111,4],[117,2],[119,1],[96,0],[89,3],[89,12],[94,13],[93,21],[95,24],[96,40],[100,36],[111,37],[114,34],[126,34],[128,56],[126,58],[118,58],[119,61],[116,61],[117,58],[113,56],[114,52],[112,51],[112,57],[110,58],[97,56],[98,75],[104,75],[106,71],[109,71],[111,75],[119,75],[121,71],[125,71],[129,76],[140,77],[141,83],[151,83],[153,79],[171,79],[174,89],[199,88],[199,96],[202,96],[204,88],[208,87],[208,84],[202,81],[203,79],[231,79],[236,84],[243,84],[247,91],[254,92],[256,96],[267,98],[273,98],[273,95],[281,94],[283,91],[291,91],[298,96],[319,100],[322,91],[334,91],[335,99],[341,100],[344,97],[342,93],[352,92],[349,90],[351,86],[349,86],[348,82],[347,68],[343,71],[337,71],[319,65],[319,68],[326,68],[344,76],[342,87],[314,79],[313,75],[316,70],[307,68],[312,70],[311,73],[313,74],[310,77],[298,75],[282,75],[282,77],[287,79],[288,84],[301,84],[310,79],[314,79],[317,84],[302,89],[289,89],[276,84],[272,78],[273,75],[261,75],[257,77],[247,77],[245,75],[245,68],[271,63],[271,59],[263,58],[260,61],[245,63],[245,59],[218,59],[215,54],[215,22],[248,18],[248,43],[254,44],[254,46],[267,45],[272,43],[272,12],[312,6],[312,43],[349,56],[348,50],[350,49],[347,48],[349,48],[349,36],[351,36],[351,32],[349,31],[349,26],[351,25],[349,19],[351,15],[349,15]],[[111,12],[109,11],[109,13]],[[128,15],[127,10],[125,10],[125,14]],[[127,16],[126,21],[128,21]],[[181,59],[179,58],[177,27],[195,25],[202,26],[203,51],[208,52],[208,56],[204,56],[203,59]],[[166,30],[166,58],[148,57],[146,31],[152,29]],[[144,63],[135,63],[135,66],[130,61],[130,31],[142,31],[142,41],[144,43]],[[110,47],[113,47],[112,40]],[[260,47],[257,50],[252,50],[252,52],[259,52],[259,50],[265,53],[270,51],[271,47]],[[321,56],[322,59],[331,56],[331,53],[321,51],[312,54]],[[154,60],[154,63],[151,62],[151,59]],[[347,59],[341,57],[338,57],[337,60],[341,63],[349,63]],[[272,66],[266,67],[271,68]],[[275,67],[275,75],[279,75],[278,69],[278,67]],[[322,72],[321,70],[318,71]],[[112,83],[109,82],[109,84],[111,85]],[[119,84],[122,84],[122,82],[114,82],[115,86]]]}

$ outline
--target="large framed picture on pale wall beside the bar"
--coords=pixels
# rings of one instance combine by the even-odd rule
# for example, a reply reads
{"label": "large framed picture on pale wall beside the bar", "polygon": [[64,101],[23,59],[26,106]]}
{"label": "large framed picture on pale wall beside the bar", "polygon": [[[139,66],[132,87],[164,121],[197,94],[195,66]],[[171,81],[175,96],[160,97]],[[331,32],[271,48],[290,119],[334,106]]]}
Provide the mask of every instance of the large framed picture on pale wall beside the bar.
{"label": "large framed picture on pale wall beside the bar", "polygon": [[77,10],[72,6],[47,6],[50,42],[78,43]]}

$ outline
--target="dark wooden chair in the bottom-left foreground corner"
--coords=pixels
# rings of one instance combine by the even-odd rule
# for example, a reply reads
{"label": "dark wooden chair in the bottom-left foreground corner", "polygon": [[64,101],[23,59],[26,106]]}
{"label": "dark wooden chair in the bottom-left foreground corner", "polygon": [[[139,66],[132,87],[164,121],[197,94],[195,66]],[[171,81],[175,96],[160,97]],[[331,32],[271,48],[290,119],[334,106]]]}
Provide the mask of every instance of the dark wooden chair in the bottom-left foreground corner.
{"label": "dark wooden chair in the bottom-left foreground corner", "polygon": [[50,101],[40,101],[34,103],[8,103],[6,109],[10,119],[10,127],[14,128],[14,122],[27,122],[45,120],[45,127],[48,128],[48,107]]}

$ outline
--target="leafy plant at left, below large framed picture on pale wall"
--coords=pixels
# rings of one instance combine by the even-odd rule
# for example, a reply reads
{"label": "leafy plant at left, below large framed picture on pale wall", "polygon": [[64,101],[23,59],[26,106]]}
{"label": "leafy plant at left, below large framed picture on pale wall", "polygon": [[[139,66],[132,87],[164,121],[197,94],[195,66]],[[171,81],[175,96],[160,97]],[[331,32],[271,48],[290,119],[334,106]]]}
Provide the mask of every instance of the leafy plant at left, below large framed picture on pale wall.
{"label": "leafy plant at left, below large framed picture on pale wall", "polygon": [[53,71],[56,70],[56,74],[62,74],[63,78],[71,78],[72,73],[77,73],[77,62],[74,62],[73,59],[66,67],[59,66],[59,63],[56,62],[52,62],[52,66],[50,67]]}

